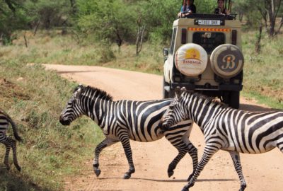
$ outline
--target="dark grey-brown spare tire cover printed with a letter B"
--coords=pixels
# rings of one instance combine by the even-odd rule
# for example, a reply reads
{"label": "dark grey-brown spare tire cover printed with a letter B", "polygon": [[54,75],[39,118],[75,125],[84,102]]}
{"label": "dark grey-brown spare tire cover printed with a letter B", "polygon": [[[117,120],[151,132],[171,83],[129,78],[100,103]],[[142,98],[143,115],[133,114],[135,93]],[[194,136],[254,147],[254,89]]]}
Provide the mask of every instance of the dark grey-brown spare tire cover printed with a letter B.
{"label": "dark grey-brown spare tire cover printed with a letter B", "polygon": [[223,78],[236,76],[243,69],[243,62],[241,50],[231,44],[216,47],[210,56],[212,70]]}

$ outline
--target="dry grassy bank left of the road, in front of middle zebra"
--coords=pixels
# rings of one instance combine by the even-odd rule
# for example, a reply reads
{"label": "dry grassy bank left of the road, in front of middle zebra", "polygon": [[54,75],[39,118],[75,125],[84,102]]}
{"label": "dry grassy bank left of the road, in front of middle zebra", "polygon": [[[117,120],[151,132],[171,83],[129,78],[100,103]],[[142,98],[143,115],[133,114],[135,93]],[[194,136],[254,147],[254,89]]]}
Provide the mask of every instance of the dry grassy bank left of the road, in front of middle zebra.
{"label": "dry grassy bank left of the road, in front of middle zebra", "polygon": [[1,108],[18,125],[23,142],[18,143],[21,173],[11,154],[11,170],[6,171],[5,147],[0,146],[0,190],[63,190],[64,177],[79,173],[82,163],[93,158],[93,147],[103,137],[99,127],[86,117],[68,127],[59,123],[75,86],[40,65],[1,59]]}

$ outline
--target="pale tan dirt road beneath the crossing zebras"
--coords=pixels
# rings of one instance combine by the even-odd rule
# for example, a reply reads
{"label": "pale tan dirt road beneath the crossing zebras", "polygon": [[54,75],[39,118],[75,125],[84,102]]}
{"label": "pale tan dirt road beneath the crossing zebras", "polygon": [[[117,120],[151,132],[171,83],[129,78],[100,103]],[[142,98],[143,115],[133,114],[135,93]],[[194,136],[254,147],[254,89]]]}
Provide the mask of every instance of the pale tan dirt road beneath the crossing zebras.
{"label": "pale tan dirt road beneath the crossing zebras", "polygon": [[[162,77],[133,71],[106,69],[96,66],[46,65],[64,78],[85,85],[95,86],[110,93],[115,100],[152,100],[161,98]],[[241,98],[243,110],[267,110],[255,105],[253,100]],[[194,126],[190,137],[197,146],[199,158],[204,147],[203,135]],[[168,178],[167,168],[177,151],[166,139],[151,143],[131,141],[136,173],[129,180],[122,177],[127,171],[127,160],[121,144],[106,148],[100,155],[100,177],[92,170],[92,158],[80,168],[81,173],[66,178],[65,190],[181,190],[192,172],[192,160],[187,155]],[[283,190],[283,156],[278,149],[267,154],[241,154],[246,190]],[[195,186],[190,190],[238,190],[240,183],[233,163],[226,151],[219,151],[202,171]]]}

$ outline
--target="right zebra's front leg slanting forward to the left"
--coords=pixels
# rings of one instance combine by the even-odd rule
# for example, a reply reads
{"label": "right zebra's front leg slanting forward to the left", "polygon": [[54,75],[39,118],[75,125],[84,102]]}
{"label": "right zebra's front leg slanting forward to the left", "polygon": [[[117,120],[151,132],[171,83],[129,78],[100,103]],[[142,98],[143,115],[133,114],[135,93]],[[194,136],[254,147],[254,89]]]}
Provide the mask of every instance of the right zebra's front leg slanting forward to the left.
{"label": "right zebra's front leg slanting forward to the left", "polygon": [[187,191],[187,190],[189,190],[190,187],[195,185],[195,181],[197,180],[197,177],[200,175],[200,173],[204,169],[204,166],[207,165],[210,158],[212,158],[212,156],[218,150],[219,150],[219,148],[217,146],[213,145],[213,144],[207,144],[204,147],[204,153],[202,154],[202,159],[200,160],[199,163],[197,163],[197,168],[194,170],[193,174],[190,175],[191,178],[189,180],[189,183],[187,183],[187,185],[185,185],[185,187],[183,187],[182,191]]}

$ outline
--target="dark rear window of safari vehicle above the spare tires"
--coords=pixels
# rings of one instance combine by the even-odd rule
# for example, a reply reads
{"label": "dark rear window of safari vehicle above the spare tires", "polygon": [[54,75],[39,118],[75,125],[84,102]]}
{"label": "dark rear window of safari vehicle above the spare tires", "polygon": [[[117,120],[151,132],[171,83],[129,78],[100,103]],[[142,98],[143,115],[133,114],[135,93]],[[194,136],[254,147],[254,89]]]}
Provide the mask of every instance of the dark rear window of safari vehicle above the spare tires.
{"label": "dark rear window of safari vehicle above the spare tires", "polygon": [[225,44],[225,35],[224,33],[196,32],[192,36],[192,42],[202,46],[207,54],[211,54],[216,47]]}

